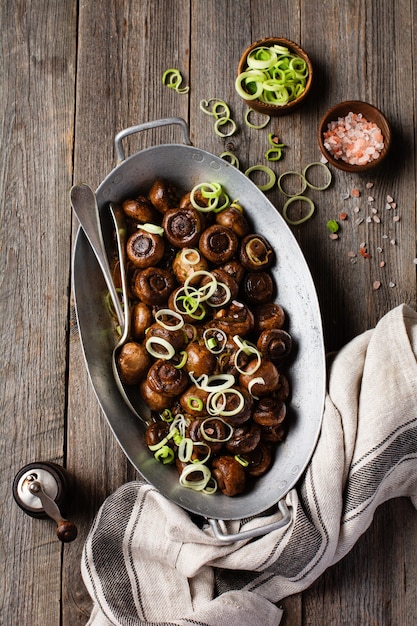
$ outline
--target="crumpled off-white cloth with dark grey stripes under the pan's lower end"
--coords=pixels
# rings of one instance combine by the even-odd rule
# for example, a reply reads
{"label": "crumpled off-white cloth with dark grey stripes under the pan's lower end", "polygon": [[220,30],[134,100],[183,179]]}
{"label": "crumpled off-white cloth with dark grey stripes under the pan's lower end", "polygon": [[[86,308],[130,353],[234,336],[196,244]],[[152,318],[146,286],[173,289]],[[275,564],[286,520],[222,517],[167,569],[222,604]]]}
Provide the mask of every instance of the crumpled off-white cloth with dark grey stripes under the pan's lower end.
{"label": "crumpled off-white cloth with dark grey stripes under the pan's lower end", "polygon": [[[280,599],[343,558],[384,501],[417,507],[417,314],[393,309],[334,358],[321,435],[287,526],[224,545],[144,482],[102,505],[84,546],[91,626],[276,626]],[[279,513],[227,522],[228,532]]]}

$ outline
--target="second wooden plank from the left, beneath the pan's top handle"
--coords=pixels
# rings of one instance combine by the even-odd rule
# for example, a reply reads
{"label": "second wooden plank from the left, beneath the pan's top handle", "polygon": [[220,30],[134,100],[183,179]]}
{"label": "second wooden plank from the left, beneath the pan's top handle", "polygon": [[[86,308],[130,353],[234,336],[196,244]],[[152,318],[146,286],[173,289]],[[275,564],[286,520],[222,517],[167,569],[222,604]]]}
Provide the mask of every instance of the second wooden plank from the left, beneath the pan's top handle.
{"label": "second wooden plank from the left, beneath the pan's top handle", "polygon": [[[161,79],[166,69],[178,67],[188,83],[189,23],[185,1],[101,0],[80,6],[74,180],[98,187],[116,166],[113,140],[123,128],[171,116],[187,119],[188,97]],[[129,156],[181,139],[177,127],[166,127],[136,134],[123,146]],[[63,624],[69,626],[84,624],[91,610],[79,567],[93,517],[107,495],[136,477],[99,409],[74,321],[72,329],[67,455],[80,492],[75,501],[79,539],[63,564]]]}

